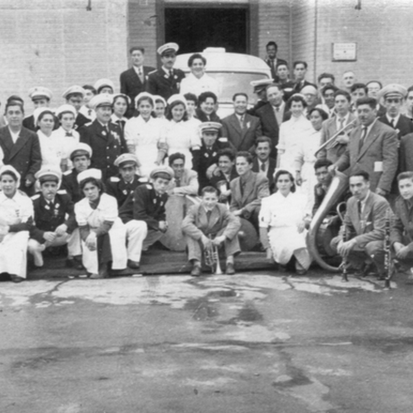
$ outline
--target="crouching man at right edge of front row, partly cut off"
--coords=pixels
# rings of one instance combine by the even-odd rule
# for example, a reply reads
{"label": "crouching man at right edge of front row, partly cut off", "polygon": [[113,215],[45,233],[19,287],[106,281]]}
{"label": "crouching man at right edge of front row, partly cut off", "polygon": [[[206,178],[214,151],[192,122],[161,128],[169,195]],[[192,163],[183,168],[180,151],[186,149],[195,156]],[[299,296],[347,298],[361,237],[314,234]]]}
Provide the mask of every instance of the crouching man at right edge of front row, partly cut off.
{"label": "crouching man at right edge of front row, partly cut off", "polygon": [[[394,220],[390,231],[390,241],[396,258],[402,264],[413,266],[413,172],[402,172],[397,176],[400,195],[394,205]],[[410,273],[407,284],[413,284]]]}

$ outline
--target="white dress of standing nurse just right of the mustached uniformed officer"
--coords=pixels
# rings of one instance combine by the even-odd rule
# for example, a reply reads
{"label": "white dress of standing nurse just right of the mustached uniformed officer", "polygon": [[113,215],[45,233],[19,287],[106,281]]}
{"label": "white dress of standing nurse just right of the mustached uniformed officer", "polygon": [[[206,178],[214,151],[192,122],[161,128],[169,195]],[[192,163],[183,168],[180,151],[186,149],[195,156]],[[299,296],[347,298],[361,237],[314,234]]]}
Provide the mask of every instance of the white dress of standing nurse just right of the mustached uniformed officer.
{"label": "white dress of standing nurse just right of the mustached uniformed officer", "polygon": [[125,125],[125,140],[127,145],[135,147],[141,176],[149,177],[149,173],[156,167],[162,125],[167,123],[152,117],[146,122],[140,115],[129,119]]}

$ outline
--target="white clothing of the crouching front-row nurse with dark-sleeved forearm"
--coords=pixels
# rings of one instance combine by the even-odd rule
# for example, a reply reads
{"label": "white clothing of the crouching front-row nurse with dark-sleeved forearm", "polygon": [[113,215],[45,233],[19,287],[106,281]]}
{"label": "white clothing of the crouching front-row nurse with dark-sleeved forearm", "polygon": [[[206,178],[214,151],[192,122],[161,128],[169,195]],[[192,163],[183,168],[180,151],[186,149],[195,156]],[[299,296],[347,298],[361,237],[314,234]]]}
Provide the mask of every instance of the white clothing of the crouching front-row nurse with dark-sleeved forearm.
{"label": "white clothing of the crouching front-row nurse with dark-sleeved forearm", "polygon": [[[122,270],[127,264],[126,229],[118,217],[118,202],[107,193],[100,195],[98,207],[92,209],[87,198],[83,198],[74,205],[74,213],[79,226],[89,225],[90,229],[97,229],[104,221],[114,224],[109,230],[109,240],[112,251],[112,269]],[[82,241],[82,262],[89,273],[98,273],[98,252],[90,251]]]}

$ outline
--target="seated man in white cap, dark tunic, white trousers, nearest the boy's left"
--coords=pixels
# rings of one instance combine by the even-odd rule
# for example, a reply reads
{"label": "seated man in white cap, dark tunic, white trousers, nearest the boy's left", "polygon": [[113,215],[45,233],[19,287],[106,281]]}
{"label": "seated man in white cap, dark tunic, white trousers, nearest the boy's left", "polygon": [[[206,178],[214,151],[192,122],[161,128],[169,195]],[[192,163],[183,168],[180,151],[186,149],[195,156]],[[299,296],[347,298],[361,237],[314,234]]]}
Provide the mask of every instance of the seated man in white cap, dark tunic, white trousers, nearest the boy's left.
{"label": "seated man in white cap, dark tunic, white trousers, nearest the boy's left", "polygon": [[158,241],[167,232],[165,204],[167,187],[173,178],[169,167],[156,167],[151,171],[150,183],[139,185],[119,209],[120,219],[127,231],[127,266],[139,268],[142,249]]}

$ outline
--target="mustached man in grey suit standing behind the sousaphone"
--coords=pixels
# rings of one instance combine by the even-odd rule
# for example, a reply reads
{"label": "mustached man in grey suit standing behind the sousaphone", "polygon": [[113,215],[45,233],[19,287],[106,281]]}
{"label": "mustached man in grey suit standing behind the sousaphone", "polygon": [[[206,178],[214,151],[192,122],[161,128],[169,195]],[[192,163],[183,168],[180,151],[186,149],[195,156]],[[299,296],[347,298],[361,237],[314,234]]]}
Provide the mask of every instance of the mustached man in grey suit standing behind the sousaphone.
{"label": "mustached man in grey suit standing behind the sousaphone", "polygon": [[390,193],[398,162],[398,139],[394,129],[377,120],[374,98],[357,100],[359,123],[350,132],[350,142],[346,151],[329,167],[350,173],[366,171],[370,176],[370,187],[379,195]]}

